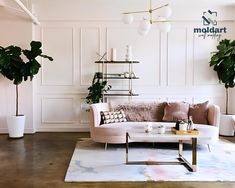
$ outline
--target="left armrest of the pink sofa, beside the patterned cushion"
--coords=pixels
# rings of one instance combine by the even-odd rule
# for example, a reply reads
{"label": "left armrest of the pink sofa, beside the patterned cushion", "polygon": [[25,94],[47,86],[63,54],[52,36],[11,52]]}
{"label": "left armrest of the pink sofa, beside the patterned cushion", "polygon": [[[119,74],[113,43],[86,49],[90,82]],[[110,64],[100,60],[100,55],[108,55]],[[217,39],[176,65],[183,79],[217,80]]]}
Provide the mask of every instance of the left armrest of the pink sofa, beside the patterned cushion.
{"label": "left armrest of the pink sofa, beside the patterned cushion", "polygon": [[108,103],[96,103],[92,104],[90,107],[90,126],[98,127],[100,125],[100,112],[101,111],[109,111]]}

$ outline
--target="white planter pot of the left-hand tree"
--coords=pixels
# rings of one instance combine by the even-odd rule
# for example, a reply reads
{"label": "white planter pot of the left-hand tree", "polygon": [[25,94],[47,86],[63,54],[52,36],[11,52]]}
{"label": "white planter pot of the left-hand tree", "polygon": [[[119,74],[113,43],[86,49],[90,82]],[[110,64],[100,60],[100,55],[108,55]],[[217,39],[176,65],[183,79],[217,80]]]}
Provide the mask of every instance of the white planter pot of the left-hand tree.
{"label": "white planter pot of the left-hand tree", "polygon": [[21,138],[24,136],[24,115],[7,117],[7,125],[10,138]]}

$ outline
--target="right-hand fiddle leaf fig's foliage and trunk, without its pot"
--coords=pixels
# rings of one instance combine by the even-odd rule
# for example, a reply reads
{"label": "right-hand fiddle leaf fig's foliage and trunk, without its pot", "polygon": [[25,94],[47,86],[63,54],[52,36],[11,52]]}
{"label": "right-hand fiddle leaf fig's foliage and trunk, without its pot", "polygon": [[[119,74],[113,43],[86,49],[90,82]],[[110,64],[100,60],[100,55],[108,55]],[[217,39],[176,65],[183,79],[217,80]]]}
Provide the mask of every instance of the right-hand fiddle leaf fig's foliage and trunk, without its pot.
{"label": "right-hand fiddle leaf fig's foliage and trunk, without its pot", "polygon": [[213,52],[210,66],[217,72],[219,81],[226,89],[226,115],[228,114],[228,89],[235,86],[235,40],[221,40]]}

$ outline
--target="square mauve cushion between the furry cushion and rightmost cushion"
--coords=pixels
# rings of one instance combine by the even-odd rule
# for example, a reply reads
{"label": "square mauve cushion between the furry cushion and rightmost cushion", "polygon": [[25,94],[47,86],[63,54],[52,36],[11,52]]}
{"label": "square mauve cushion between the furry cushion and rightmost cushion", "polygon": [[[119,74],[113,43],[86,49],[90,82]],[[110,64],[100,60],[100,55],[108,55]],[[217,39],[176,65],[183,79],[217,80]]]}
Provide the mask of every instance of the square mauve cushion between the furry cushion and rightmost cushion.
{"label": "square mauve cushion between the furry cushion and rightmost cushion", "polygon": [[163,121],[176,122],[188,120],[189,104],[186,102],[170,102],[164,109]]}

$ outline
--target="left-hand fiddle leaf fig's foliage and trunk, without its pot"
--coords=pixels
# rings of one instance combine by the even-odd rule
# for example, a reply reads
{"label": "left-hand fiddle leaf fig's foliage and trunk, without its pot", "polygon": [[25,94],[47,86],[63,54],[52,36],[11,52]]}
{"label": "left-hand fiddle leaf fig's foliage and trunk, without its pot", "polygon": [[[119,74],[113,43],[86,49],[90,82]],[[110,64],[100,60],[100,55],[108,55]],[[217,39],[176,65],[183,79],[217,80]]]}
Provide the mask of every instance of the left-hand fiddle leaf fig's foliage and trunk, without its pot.
{"label": "left-hand fiddle leaf fig's foliage and trunk, without its pot", "polygon": [[18,86],[28,79],[32,81],[38,73],[41,65],[36,58],[40,56],[53,61],[52,57],[42,54],[41,42],[32,41],[30,47],[27,50],[18,46],[0,46],[0,73],[16,86],[16,116],[19,116]]}

